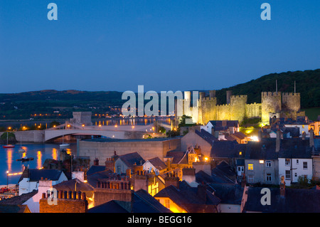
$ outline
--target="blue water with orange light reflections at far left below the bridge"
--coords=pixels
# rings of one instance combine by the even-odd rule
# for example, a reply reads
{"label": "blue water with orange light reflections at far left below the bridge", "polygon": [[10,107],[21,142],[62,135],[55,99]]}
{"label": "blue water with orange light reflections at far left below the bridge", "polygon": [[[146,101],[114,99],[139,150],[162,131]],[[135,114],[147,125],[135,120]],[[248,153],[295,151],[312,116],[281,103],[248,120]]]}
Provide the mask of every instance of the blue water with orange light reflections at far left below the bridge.
{"label": "blue water with orange light reflections at far left below the bridge", "polygon": [[[0,148],[0,185],[6,185],[7,176],[6,171],[10,173],[18,173],[23,170],[23,166],[30,169],[40,169],[43,167],[43,163],[46,159],[60,159],[60,147],[59,144],[21,144],[23,149],[26,149],[24,154],[18,152],[20,144],[16,144],[14,148],[4,149]],[[76,143],[71,143],[70,147],[65,148],[68,154],[77,153]],[[21,162],[16,159],[21,157],[33,157],[32,161]],[[9,184],[18,184],[18,179],[21,175],[8,176]]]}

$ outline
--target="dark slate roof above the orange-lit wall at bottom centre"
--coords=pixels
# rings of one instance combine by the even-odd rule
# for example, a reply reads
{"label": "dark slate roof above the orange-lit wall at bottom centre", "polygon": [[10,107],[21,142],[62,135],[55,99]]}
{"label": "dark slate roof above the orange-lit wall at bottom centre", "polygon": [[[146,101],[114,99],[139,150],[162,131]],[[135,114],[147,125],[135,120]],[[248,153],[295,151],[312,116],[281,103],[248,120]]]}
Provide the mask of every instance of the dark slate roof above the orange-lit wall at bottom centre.
{"label": "dark slate roof above the orange-lit wall at bottom centre", "polygon": [[210,191],[206,190],[206,201],[204,201],[200,196],[198,196],[197,191],[201,187],[191,187],[186,183],[186,181],[179,181],[179,188],[176,186],[167,186],[166,188],[159,191],[155,198],[164,197],[170,198],[175,204],[181,208],[188,211],[188,213],[198,212],[199,206],[203,205],[218,205],[220,204],[220,199],[214,196]]}

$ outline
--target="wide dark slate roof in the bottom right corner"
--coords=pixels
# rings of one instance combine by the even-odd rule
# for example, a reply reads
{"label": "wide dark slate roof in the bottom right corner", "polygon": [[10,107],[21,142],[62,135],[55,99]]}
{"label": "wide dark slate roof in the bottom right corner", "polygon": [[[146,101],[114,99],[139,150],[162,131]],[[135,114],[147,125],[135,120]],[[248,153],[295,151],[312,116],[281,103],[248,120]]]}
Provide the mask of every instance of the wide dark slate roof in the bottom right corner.
{"label": "wide dark slate roof in the bottom right corner", "polygon": [[262,188],[249,187],[245,211],[263,213],[319,213],[320,190],[285,189],[285,196],[280,196],[279,188],[270,188],[271,205],[260,203]]}

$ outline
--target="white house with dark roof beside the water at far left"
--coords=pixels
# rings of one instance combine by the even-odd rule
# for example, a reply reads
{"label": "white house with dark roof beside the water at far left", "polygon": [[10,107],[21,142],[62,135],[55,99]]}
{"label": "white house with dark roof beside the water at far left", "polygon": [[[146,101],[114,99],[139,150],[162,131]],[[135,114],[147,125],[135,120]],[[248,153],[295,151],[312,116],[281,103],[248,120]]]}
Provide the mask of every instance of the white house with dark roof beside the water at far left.
{"label": "white house with dark roof beside the water at far left", "polygon": [[58,169],[25,169],[18,180],[19,195],[37,190],[41,178],[50,179],[52,185],[68,181],[65,173]]}

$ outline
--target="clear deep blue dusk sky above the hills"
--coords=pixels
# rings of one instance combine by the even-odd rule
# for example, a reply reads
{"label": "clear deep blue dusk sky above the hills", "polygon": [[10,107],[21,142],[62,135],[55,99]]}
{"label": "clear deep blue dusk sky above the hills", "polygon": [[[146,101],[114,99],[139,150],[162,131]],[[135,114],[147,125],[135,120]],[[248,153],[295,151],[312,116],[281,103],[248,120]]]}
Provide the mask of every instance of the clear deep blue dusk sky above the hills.
{"label": "clear deep blue dusk sky above the hills", "polygon": [[1,0],[0,93],[218,90],[320,68],[319,41],[319,0]]}

